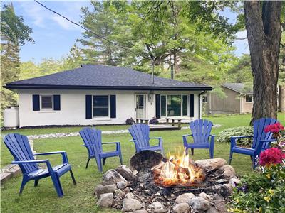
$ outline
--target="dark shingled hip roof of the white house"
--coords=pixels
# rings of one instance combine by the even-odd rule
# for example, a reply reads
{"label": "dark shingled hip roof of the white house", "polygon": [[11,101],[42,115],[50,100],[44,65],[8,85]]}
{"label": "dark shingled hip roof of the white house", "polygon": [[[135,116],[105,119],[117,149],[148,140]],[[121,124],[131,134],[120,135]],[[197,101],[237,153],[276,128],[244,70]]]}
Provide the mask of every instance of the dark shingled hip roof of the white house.
{"label": "dark shingled hip roof of the white house", "polygon": [[81,68],[7,83],[7,89],[158,89],[212,90],[204,84],[180,82],[132,70],[128,67],[83,65]]}

